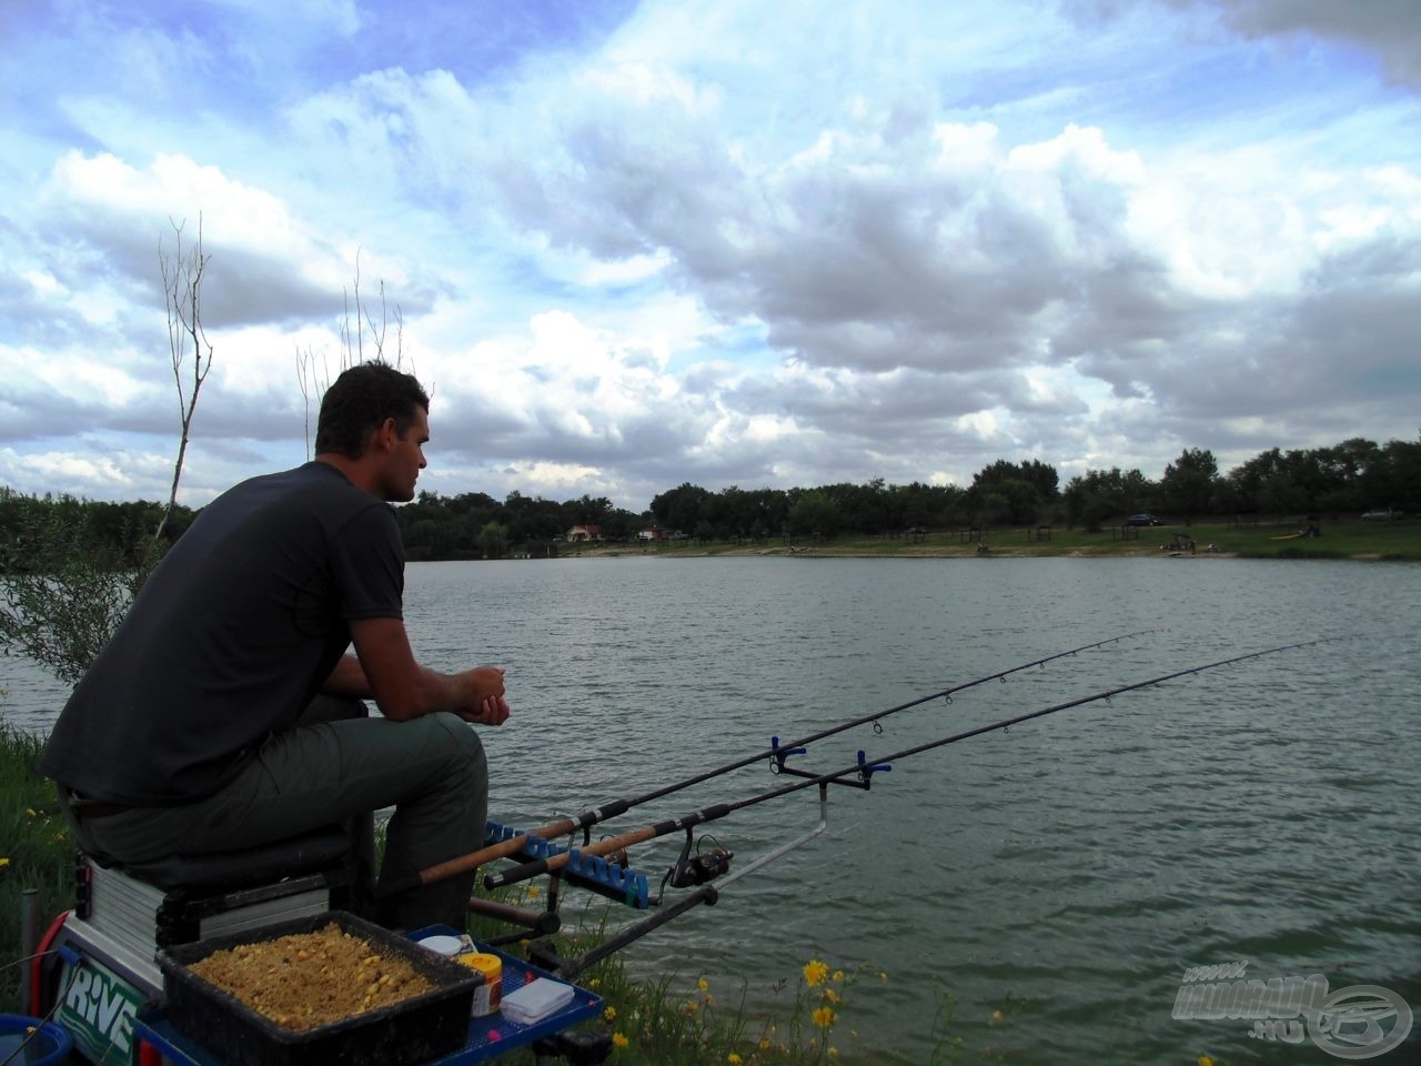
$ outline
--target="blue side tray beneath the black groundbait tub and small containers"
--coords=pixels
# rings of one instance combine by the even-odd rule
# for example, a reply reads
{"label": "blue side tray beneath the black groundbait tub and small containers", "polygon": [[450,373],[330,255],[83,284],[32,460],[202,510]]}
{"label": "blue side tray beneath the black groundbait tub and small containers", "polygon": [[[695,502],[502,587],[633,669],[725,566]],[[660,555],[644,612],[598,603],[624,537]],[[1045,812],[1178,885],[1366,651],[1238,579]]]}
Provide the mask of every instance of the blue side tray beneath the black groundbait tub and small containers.
{"label": "blue side tray beneath the black groundbait tub and small containers", "polygon": [[[421,930],[415,937],[426,937],[431,932],[439,931],[442,930]],[[453,932],[453,930],[448,930],[448,932]],[[534,978],[558,979],[546,969],[540,969],[495,948],[479,945],[479,951],[486,951],[503,959],[503,995],[523,988],[523,985]],[[406,1066],[470,1066],[476,1062],[487,1062],[499,1055],[530,1045],[543,1036],[551,1036],[571,1025],[595,1018],[601,1008],[601,996],[574,985],[573,1002],[557,1013],[549,1015],[533,1025],[519,1025],[500,1013],[489,1015],[487,1018],[470,1018],[469,1038],[465,1040],[462,1050],[431,1063],[408,1063]],[[209,1050],[173,1029],[168,1022],[166,1011],[141,1011],[138,1018],[134,1019],[134,1032],[166,1055],[175,1066],[222,1066],[222,1062]]]}

